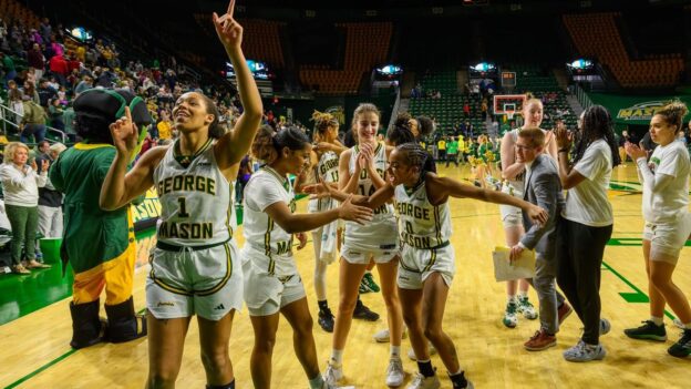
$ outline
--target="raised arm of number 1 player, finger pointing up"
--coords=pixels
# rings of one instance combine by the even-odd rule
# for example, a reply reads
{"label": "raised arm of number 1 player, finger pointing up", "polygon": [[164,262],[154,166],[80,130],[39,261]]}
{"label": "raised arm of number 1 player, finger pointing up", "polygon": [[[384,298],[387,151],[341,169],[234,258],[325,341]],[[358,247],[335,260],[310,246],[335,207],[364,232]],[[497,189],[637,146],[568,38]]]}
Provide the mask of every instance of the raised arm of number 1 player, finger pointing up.
{"label": "raised arm of number 1 player, finger pointing up", "polygon": [[264,110],[259,90],[243,53],[243,27],[233,18],[234,8],[235,0],[230,0],[226,14],[219,18],[214,12],[214,27],[235,69],[244,109],[233,131],[221,136],[215,145],[216,161],[221,170],[239,163],[245,157],[259,130]]}

